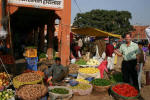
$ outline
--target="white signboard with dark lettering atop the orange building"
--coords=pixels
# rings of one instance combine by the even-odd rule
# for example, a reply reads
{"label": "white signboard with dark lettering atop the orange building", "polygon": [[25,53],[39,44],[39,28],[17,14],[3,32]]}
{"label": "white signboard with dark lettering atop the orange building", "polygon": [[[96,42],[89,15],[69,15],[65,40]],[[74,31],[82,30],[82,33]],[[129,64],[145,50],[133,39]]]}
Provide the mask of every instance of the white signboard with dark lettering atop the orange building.
{"label": "white signboard with dark lettering atop the orange building", "polygon": [[63,9],[64,0],[8,0],[8,4]]}

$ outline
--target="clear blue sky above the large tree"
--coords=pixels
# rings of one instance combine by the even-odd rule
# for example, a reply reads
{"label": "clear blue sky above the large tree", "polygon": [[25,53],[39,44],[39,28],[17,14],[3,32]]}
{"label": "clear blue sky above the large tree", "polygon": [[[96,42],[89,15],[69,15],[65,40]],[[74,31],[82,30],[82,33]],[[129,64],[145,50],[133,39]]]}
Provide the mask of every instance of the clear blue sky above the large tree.
{"label": "clear blue sky above the large tree", "polygon": [[[81,12],[93,9],[125,10],[132,14],[132,25],[150,25],[150,0],[76,0]],[[72,0],[71,23],[80,10]]]}

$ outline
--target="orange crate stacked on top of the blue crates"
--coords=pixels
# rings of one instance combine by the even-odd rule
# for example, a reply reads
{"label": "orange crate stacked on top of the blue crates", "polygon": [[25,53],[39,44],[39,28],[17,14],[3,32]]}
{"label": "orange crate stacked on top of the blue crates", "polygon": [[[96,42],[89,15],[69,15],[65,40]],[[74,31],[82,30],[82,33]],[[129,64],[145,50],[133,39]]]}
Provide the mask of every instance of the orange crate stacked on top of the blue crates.
{"label": "orange crate stacked on top of the blue crates", "polygon": [[25,48],[25,57],[37,57],[37,48],[36,47],[27,47]]}

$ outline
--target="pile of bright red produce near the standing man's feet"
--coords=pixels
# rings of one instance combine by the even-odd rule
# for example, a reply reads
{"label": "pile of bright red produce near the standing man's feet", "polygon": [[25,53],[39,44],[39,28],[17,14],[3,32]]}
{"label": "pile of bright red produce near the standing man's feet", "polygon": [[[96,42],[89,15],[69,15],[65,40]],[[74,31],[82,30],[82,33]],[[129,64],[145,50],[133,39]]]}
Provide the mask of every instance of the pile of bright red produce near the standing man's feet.
{"label": "pile of bright red produce near the standing man's feet", "polygon": [[136,97],[138,95],[138,90],[129,84],[117,84],[112,87],[112,90],[124,97]]}

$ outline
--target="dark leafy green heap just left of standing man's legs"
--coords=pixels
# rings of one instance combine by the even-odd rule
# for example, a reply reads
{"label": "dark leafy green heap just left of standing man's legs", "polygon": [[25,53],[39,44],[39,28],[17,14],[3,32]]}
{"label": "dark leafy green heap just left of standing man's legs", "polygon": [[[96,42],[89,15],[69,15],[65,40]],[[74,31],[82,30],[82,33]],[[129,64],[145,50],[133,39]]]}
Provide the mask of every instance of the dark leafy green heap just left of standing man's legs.
{"label": "dark leafy green heap just left of standing man's legs", "polygon": [[122,73],[116,73],[110,76],[110,80],[113,84],[123,82]]}

